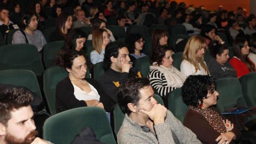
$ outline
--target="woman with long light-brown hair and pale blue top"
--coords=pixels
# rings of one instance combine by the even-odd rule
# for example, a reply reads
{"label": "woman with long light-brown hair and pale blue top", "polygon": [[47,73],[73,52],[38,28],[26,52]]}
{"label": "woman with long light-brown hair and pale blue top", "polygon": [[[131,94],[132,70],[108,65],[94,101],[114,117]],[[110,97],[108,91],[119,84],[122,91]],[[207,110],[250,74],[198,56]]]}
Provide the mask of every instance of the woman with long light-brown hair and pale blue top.
{"label": "woman with long light-brown hair and pale blue top", "polygon": [[104,60],[105,48],[109,42],[109,34],[105,29],[96,29],[93,32],[93,51],[90,58],[94,65]]}

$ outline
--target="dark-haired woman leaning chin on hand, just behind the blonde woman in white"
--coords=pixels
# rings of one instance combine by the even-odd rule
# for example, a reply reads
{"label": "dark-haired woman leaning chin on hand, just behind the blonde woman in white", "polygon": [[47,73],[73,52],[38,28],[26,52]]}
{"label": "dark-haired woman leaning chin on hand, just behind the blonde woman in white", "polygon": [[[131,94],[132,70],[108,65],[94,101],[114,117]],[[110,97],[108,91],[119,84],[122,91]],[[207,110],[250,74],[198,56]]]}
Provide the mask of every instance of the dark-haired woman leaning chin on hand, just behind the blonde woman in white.
{"label": "dark-haired woman leaning chin on hand, just behind the blonde woman in white", "polygon": [[213,25],[207,24],[202,27],[201,36],[206,39],[207,45],[213,45],[214,43],[224,44],[225,42],[215,34],[216,28]]}

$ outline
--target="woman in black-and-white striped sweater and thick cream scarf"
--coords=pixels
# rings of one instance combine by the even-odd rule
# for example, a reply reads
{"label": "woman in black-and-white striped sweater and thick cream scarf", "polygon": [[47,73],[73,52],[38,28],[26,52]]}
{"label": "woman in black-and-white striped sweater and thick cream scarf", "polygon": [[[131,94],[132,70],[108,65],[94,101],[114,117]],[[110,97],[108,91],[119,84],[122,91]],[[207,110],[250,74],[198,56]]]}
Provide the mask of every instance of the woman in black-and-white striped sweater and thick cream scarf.
{"label": "woman in black-and-white striped sweater and thick cream scarf", "polygon": [[159,46],[154,49],[150,60],[153,64],[147,77],[150,79],[150,85],[161,97],[182,86],[186,76],[173,66],[172,51],[169,47]]}

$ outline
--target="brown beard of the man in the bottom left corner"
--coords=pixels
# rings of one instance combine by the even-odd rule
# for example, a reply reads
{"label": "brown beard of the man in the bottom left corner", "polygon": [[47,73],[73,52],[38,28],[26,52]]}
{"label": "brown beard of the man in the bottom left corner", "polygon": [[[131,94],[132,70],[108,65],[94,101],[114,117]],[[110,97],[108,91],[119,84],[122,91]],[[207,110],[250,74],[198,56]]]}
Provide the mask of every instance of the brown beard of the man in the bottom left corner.
{"label": "brown beard of the man in the bottom left corner", "polygon": [[34,141],[35,135],[37,134],[38,132],[34,130],[34,131],[31,131],[24,139],[19,139],[7,133],[5,136],[5,142],[6,144],[30,144]]}

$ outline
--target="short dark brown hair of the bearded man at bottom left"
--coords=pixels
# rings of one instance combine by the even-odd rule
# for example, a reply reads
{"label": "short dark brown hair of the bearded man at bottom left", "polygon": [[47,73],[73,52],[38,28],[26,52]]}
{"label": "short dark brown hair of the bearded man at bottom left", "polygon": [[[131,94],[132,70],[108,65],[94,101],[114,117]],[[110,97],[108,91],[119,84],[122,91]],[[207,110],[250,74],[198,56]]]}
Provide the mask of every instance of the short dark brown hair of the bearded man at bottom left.
{"label": "short dark brown hair of the bearded man at bottom left", "polygon": [[29,106],[32,102],[32,93],[21,87],[5,88],[0,93],[0,123],[7,126],[11,119],[11,111],[24,106]]}

